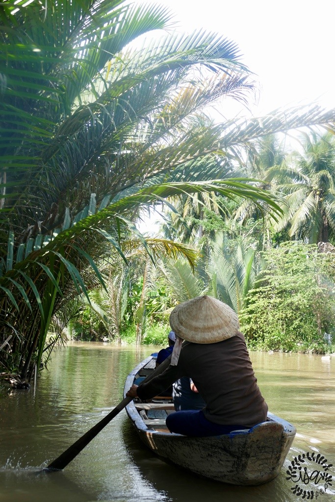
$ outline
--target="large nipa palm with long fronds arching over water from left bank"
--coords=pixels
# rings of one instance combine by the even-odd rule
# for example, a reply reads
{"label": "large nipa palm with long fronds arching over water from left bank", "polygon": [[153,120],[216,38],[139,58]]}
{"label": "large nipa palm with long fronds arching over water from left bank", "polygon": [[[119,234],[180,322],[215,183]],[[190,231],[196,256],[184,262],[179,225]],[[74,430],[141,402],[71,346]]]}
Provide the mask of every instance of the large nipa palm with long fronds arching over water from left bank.
{"label": "large nipa palm with long fronds arching over water from left bank", "polygon": [[[105,287],[100,270],[116,255],[129,265],[134,240],[152,262],[169,252],[194,265],[185,247],[148,243],[134,223],[141,207],[192,194],[201,212],[216,193],[278,215],[276,197],[232,178],[232,166],[270,132],[330,130],[335,112],[199,120],[227,95],[246,102],[250,72],[235,43],[202,30],[130,44],[169,28],[158,5],[8,0],[0,12],[0,342],[12,336],[0,363],[19,354],[29,378],[49,353],[49,328],[62,339],[69,302]],[[115,329],[124,314],[116,286]]]}

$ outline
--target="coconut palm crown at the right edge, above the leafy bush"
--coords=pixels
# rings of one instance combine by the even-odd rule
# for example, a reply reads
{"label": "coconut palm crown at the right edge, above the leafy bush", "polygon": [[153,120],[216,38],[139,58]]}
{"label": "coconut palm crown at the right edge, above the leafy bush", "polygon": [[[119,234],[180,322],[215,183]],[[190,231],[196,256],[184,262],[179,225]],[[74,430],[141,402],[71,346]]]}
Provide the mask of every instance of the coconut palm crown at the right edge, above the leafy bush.
{"label": "coconut palm crown at the right edge, above the leafy bush", "polygon": [[303,152],[284,167],[284,214],[276,228],[311,244],[335,237],[335,140],[331,133],[304,135]]}

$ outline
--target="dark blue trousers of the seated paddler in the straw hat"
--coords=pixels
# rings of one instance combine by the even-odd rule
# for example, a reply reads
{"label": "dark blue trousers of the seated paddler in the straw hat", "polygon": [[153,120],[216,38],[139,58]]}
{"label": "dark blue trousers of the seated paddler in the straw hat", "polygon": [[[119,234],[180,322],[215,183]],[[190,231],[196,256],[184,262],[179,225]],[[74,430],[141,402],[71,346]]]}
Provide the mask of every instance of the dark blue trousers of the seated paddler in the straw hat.
{"label": "dark blue trousers of the seated paddler in the straw hat", "polygon": [[248,430],[244,425],[219,425],[207,420],[201,410],[185,410],[167,416],[166,425],[171,432],[184,436],[220,436],[236,430]]}

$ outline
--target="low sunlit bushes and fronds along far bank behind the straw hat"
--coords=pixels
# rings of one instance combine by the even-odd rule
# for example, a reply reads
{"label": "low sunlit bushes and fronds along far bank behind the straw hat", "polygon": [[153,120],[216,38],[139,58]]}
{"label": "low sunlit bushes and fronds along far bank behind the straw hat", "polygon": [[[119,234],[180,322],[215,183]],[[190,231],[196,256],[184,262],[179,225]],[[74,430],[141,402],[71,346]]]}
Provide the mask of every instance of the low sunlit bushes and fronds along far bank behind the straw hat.
{"label": "low sunlit bushes and fronds along far bank behind the straw hat", "polygon": [[[100,317],[96,316],[97,305],[93,305],[94,313],[92,307],[86,307],[85,315],[77,319],[67,336],[135,343],[140,330],[141,343],[166,344],[172,308],[188,297],[209,294],[239,312],[241,331],[250,350],[334,351],[335,257],[320,253],[316,245],[301,242],[283,242],[255,253],[252,246],[243,249],[241,240],[228,244],[222,235],[216,238],[222,238],[222,247],[210,250],[213,255],[204,268],[201,265],[192,272],[185,261],[177,261],[163,265],[159,273],[155,270],[155,282],[149,280],[146,286],[143,308],[140,279],[137,294],[131,299],[133,310],[125,312],[119,338],[106,310],[99,309]],[[162,289],[157,287],[159,281],[164,284]]]}

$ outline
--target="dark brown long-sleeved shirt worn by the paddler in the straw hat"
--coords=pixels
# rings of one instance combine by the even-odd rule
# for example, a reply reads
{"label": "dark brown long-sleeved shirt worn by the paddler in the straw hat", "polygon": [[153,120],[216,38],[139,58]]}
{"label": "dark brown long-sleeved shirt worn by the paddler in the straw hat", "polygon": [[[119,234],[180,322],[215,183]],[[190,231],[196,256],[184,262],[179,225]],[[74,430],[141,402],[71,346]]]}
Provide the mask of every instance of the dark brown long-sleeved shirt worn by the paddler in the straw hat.
{"label": "dark brown long-sleeved shirt worn by the paddler in the straw hat", "polygon": [[150,399],[182,376],[193,380],[207,403],[202,411],[210,422],[252,427],[266,421],[268,406],[257,385],[242,333],[217,343],[184,342],[178,364],[143,382],[137,394]]}

